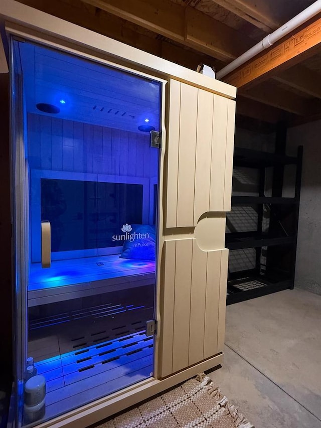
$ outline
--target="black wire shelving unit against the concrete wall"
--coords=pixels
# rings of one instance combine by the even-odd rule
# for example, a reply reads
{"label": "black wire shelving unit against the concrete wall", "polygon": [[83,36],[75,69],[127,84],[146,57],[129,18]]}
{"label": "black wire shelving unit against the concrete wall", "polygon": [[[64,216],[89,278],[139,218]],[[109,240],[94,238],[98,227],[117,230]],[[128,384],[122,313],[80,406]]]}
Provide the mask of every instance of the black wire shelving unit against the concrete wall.
{"label": "black wire shelving unit against the concrete wall", "polygon": [[[276,133],[276,153],[235,148],[234,167],[258,170],[258,196],[233,195],[233,207],[251,207],[256,212],[256,228],[252,231],[226,233],[230,258],[235,251],[255,251],[255,266],[230,271],[227,304],[242,302],[281,290],[293,289],[297,244],[297,228],[302,171],[302,147],[296,157],[285,156],[286,128]],[[283,152],[283,153],[282,153]],[[282,197],[284,167],[295,167],[294,197]],[[294,168],[293,167],[293,168]],[[266,171],[272,168],[271,196],[265,196]],[[265,221],[265,223],[264,223]],[[267,224],[264,227],[263,224]],[[238,255],[234,258],[238,259]],[[242,264],[240,257],[239,264]]]}

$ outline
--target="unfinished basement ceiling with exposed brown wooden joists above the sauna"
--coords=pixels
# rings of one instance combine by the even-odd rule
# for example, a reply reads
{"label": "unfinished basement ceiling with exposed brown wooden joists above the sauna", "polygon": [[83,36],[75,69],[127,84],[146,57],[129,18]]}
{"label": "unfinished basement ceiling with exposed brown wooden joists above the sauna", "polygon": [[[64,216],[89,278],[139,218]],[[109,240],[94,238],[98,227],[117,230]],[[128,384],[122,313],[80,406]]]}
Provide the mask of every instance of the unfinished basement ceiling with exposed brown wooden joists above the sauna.
{"label": "unfinished basement ceiling with exposed brown wooden joists above the sauna", "polygon": [[[313,0],[20,0],[59,18],[89,28],[154,55],[196,69],[201,62],[220,70],[264,36],[313,3]],[[298,31],[310,39],[308,26],[321,28],[321,14]],[[304,33],[305,32],[305,33]],[[278,48],[277,42],[272,49]],[[321,32],[313,46],[295,58],[282,55],[250,83],[228,75],[238,87],[239,117],[272,126],[321,117]],[[253,59],[254,61],[255,59]],[[235,80],[236,79],[236,80]]]}

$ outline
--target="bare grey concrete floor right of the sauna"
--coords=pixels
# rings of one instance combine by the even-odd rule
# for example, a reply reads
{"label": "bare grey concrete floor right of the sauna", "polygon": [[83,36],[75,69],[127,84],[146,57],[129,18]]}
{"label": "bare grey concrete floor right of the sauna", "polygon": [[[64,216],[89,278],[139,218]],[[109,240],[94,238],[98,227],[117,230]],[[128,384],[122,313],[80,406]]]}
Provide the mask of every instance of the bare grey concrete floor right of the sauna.
{"label": "bare grey concrete floor right of the sauna", "polygon": [[295,289],[227,307],[210,377],[255,428],[321,428],[321,296]]}

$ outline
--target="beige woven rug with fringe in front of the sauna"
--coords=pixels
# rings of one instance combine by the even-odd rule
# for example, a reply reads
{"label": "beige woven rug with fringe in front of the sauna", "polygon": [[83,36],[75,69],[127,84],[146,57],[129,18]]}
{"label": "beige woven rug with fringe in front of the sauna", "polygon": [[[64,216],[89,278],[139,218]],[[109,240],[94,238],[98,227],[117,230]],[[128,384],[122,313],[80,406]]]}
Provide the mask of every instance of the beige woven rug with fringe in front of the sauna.
{"label": "beige woven rug with fringe in front of the sauna", "polygon": [[[212,380],[199,374],[99,428],[254,428]],[[97,427],[97,428],[98,428]]]}

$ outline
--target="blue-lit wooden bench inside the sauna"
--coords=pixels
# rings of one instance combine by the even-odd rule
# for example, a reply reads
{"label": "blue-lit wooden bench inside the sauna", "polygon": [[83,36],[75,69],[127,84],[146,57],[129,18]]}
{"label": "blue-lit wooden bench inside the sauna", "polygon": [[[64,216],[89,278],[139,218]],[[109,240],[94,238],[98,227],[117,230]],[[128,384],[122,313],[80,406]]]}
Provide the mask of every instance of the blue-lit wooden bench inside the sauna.
{"label": "blue-lit wooden bench inside the sauna", "polygon": [[50,268],[32,263],[28,306],[141,287],[154,281],[155,261],[124,259],[119,254],[52,261]]}

